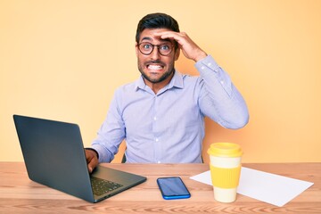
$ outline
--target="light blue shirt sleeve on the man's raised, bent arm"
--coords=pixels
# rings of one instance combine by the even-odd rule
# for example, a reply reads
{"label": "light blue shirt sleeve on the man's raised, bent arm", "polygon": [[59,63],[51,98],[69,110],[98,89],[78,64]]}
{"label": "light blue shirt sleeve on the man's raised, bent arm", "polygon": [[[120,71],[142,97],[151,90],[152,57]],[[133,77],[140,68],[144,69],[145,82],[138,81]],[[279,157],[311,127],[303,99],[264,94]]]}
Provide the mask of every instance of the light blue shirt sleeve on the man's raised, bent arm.
{"label": "light blue shirt sleeve on the man's raised, bent arm", "polygon": [[249,120],[248,108],[226,71],[210,55],[196,62],[195,67],[201,74],[202,113],[224,128],[243,128]]}

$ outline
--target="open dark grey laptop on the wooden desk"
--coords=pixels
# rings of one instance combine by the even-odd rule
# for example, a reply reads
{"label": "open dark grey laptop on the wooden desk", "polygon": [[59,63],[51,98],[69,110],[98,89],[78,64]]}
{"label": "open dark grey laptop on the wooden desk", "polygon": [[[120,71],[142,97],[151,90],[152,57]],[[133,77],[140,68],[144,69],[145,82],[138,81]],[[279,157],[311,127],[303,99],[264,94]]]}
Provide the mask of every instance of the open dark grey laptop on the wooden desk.
{"label": "open dark grey laptop on the wooden desk", "polygon": [[87,202],[100,202],[146,177],[97,166],[89,174],[77,124],[13,115],[30,180]]}

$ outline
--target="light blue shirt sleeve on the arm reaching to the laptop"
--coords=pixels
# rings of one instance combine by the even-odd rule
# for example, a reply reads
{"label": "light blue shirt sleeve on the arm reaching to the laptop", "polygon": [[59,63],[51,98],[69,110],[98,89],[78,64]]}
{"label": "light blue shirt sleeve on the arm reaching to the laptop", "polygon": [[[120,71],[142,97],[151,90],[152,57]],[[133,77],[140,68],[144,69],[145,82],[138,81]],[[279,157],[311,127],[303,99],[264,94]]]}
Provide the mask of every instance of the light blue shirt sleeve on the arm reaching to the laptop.
{"label": "light blue shirt sleeve on the arm reaching to the laptop", "polygon": [[110,109],[92,148],[99,154],[99,162],[111,162],[119,151],[119,144],[125,138],[125,125],[119,111],[117,95],[111,101]]}

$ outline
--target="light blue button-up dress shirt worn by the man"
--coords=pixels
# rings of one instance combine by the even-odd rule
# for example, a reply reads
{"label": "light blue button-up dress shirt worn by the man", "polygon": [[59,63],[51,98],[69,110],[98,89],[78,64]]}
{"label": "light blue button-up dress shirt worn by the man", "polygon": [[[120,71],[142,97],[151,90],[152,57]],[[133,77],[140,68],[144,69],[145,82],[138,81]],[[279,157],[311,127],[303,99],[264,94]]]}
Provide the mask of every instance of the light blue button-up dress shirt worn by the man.
{"label": "light blue button-up dress shirt worn by the man", "polygon": [[120,86],[92,147],[110,162],[125,139],[127,162],[202,162],[204,117],[225,128],[243,128],[249,114],[242,95],[209,55],[195,67],[200,77],[177,70],[157,95],[140,77]]}

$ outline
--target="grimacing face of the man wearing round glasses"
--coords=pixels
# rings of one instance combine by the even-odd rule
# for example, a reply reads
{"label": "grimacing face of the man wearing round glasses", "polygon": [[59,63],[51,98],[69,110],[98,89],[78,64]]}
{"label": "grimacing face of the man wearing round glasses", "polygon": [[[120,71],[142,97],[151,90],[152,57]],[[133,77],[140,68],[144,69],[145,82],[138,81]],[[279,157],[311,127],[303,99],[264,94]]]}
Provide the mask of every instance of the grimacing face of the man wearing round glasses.
{"label": "grimacing face of the man wearing round glasses", "polygon": [[170,80],[174,72],[174,62],[179,56],[179,49],[175,51],[174,41],[153,36],[156,32],[164,31],[169,31],[169,29],[144,29],[139,37],[139,44],[146,42],[152,45],[168,44],[173,46],[172,52],[166,56],[159,53],[157,46],[154,46],[152,53],[145,55],[139,51],[136,44],[138,70],[142,73],[145,81],[147,80],[152,84]]}

